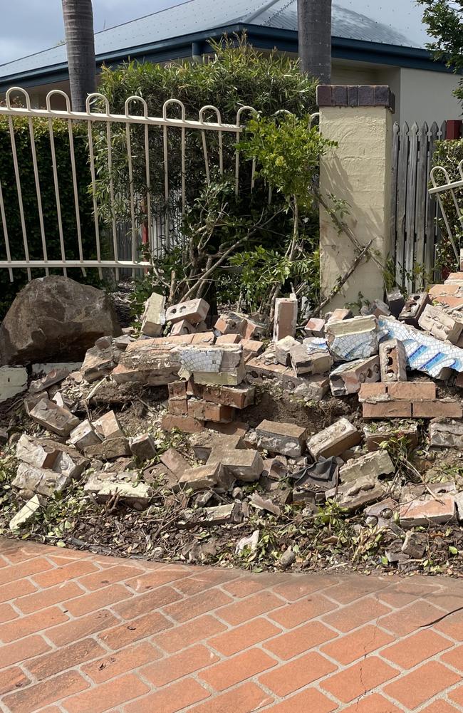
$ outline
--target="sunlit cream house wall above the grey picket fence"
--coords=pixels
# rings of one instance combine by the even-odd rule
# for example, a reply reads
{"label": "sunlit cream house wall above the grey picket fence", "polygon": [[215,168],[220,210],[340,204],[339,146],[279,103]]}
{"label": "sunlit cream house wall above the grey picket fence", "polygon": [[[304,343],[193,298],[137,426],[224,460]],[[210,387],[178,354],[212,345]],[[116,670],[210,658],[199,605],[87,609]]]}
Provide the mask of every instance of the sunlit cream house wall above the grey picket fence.
{"label": "sunlit cream house wall above the grey picket fence", "polygon": [[411,125],[426,121],[440,125],[446,119],[462,117],[462,107],[452,96],[459,78],[444,72],[419,69],[400,70],[400,122]]}

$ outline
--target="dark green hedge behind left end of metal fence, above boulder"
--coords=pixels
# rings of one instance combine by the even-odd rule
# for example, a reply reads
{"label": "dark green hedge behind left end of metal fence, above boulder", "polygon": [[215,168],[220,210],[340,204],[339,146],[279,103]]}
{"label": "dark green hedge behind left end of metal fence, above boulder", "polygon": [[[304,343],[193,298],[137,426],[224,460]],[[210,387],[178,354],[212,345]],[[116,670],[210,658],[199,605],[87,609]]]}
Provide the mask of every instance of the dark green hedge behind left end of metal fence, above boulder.
{"label": "dark green hedge behind left end of metal fence, above boulder", "polygon": [[[19,177],[24,205],[26,235],[29,244],[31,260],[42,260],[44,257],[39,222],[39,207],[34,180],[34,165],[32,163],[31,139],[29,123],[26,118],[14,118],[14,138],[18,156]],[[44,230],[49,260],[61,259],[61,247],[56,213],[56,197],[54,190],[53,166],[51,163],[51,145],[49,124],[46,120],[34,119],[34,137],[39,170],[41,204],[44,211]],[[62,120],[53,122],[56,164],[58,174],[59,195],[61,202],[61,217],[66,257],[78,259],[78,242],[76,232],[76,208],[73,194],[71,174],[68,123]],[[76,156],[76,174],[78,200],[80,205],[80,220],[84,255],[91,258],[95,252],[95,230],[93,225],[93,203],[88,193],[90,172],[88,167],[87,130],[86,125],[73,125],[73,144]],[[13,153],[9,122],[0,119],[0,177],[6,212],[11,257],[13,260],[24,260],[24,242],[21,229],[19,200],[16,190]],[[6,257],[4,229],[0,221],[0,255]],[[58,271],[61,273],[61,271]],[[70,276],[82,279],[80,270],[71,270]],[[33,277],[42,277],[44,270],[33,270]],[[9,281],[7,270],[0,271],[0,319],[8,309],[16,292],[24,286],[27,280],[26,270],[14,270],[14,282]]]}

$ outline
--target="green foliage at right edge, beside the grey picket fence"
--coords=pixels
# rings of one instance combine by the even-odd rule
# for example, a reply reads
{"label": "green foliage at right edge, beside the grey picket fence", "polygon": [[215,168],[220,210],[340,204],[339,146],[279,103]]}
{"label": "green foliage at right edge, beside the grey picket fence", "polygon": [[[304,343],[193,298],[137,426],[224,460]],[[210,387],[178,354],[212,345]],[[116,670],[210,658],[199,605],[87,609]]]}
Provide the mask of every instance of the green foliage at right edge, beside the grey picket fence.
{"label": "green foliage at right edge, beside the grey picket fence", "polygon": [[[433,166],[442,166],[442,168],[445,168],[451,181],[461,180],[462,178],[461,175],[459,175],[458,170],[458,165],[461,160],[463,160],[463,139],[437,142],[434,156],[432,158]],[[442,182],[445,180],[442,173],[437,173],[436,179],[437,181]],[[463,206],[463,189],[458,188],[454,191],[454,193],[461,210],[461,207]],[[445,212],[447,213],[449,225],[452,228],[452,234],[454,236],[454,242],[458,250],[459,242],[463,239],[463,226],[457,216],[452,194],[449,191],[444,191],[444,193],[441,194],[441,200],[444,205]],[[439,218],[439,226],[442,230],[442,238],[437,246],[436,267],[438,269],[446,268],[449,272],[452,272],[452,270],[458,270],[458,260],[457,257],[455,257],[452,244],[449,241],[447,229],[442,217]]]}

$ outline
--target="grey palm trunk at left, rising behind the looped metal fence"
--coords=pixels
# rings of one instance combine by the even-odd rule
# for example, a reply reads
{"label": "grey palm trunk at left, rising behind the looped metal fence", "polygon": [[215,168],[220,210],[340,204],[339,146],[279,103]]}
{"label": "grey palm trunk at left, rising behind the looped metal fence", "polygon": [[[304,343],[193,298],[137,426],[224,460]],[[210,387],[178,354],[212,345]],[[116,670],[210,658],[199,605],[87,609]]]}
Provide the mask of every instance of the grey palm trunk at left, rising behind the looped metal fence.
{"label": "grey palm trunk at left, rising behind the looped metal fence", "polygon": [[91,0],[61,0],[68,53],[73,111],[85,111],[88,94],[96,90],[95,41]]}

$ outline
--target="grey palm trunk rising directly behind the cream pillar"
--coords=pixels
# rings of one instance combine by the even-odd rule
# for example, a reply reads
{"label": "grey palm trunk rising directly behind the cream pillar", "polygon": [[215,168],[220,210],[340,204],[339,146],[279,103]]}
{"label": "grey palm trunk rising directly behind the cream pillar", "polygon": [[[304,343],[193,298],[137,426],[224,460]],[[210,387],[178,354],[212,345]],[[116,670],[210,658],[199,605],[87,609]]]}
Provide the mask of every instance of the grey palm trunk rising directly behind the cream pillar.
{"label": "grey palm trunk rising directly behind the cream pillar", "polygon": [[300,70],[331,81],[331,0],[297,0]]}

